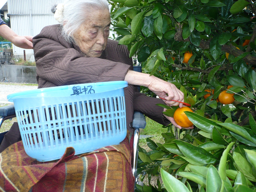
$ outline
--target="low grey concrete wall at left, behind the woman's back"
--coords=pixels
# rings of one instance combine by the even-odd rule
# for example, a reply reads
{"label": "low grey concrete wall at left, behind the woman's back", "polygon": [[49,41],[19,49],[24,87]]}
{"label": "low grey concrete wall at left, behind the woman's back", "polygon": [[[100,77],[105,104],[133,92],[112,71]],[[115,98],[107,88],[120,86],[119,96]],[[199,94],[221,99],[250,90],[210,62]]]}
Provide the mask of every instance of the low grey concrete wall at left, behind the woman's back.
{"label": "low grey concrete wall at left, behind the woman's back", "polygon": [[37,84],[36,67],[0,64],[0,81]]}

